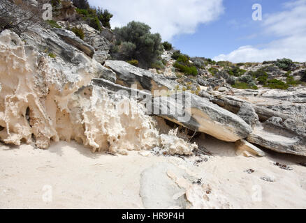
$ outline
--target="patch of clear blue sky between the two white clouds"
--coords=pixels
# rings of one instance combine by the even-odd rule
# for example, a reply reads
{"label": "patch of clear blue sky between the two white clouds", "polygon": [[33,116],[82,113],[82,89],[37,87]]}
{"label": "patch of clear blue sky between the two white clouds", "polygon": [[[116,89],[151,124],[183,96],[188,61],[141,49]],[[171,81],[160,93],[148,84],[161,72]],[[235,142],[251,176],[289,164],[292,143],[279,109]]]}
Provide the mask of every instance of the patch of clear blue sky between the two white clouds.
{"label": "patch of clear blue sky between the two white clouds", "polygon": [[[252,6],[260,3],[262,13],[276,13],[282,10],[284,0],[225,0],[224,13],[218,20],[200,24],[194,34],[181,34],[172,43],[190,56],[213,58],[228,54],[242,45],[261,45],[274,39],[261,34],[263,21],[252,20]],[[264,20],[264,18],[263,18]]]}

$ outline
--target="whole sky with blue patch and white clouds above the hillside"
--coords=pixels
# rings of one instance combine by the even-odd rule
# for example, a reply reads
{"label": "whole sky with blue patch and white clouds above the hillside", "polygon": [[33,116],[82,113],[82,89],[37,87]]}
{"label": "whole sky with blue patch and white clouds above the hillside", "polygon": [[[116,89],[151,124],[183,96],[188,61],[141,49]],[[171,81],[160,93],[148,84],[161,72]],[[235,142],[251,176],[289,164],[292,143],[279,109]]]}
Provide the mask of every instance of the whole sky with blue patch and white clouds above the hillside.
{"label": "whole sky with blue patch and white clouds above the hillside", "polygon": [[[215,61],[306,61],[306,0],[89,0],[114,15],[112,28],[132,20],[189,56]],[[261,6],[261,20],[253,20]]]}

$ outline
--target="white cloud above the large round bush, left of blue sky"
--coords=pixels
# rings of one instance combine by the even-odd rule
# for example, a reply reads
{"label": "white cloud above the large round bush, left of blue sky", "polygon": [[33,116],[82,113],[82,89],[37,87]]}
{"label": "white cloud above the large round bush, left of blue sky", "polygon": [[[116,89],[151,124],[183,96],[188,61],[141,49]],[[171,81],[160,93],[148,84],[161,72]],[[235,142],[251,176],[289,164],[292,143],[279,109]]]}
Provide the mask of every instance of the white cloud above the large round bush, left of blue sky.
{"label": "white cloud above the large round bush, left of blue sky", "polygon": [[94,6],[110,10],[112,27],[135,20],[145,22],[152,32],[171,40],[182,33],[194,33],[198,24],[217,20],[223,13],[223,0],[89,0]]}

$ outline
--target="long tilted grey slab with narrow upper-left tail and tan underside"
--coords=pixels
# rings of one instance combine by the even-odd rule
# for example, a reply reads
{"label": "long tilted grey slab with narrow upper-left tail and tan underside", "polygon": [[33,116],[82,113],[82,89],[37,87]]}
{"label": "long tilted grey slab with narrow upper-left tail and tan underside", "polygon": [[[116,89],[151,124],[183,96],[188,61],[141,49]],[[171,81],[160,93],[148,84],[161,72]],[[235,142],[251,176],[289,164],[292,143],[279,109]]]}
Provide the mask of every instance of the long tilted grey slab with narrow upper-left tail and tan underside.
{"label": "long tilted grey slab with narrow upper-left tail and tan underside", "polygon": [[250,125],[239,116],[188,92],[173,91],[171,95],[153,97],[145,91],[114,84],[105,79],[93,79],[92,83],[113,92],[136,97],[134,99],[141,101],[147,108],[147,114],[161,116],[223,141],[245,139],[252,132]]}

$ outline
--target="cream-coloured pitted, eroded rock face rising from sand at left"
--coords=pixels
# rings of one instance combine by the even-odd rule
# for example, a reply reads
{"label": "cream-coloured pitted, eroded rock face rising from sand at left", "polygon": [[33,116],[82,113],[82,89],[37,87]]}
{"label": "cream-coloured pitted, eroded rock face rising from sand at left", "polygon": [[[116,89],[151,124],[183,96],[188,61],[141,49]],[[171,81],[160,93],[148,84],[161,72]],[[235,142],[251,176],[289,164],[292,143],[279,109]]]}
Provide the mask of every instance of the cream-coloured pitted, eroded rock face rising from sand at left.
{"label": "cream-coloured pitted, eroded rock face rising from sand at left", "polygon": [[[152,118],[136,101],[111,98],[105,89],[90,85],[101,64],[82,56],[85,62],[73,65],[24,46],[11,31],[0,34],[1,141],[48,148],[51,140],[73,139],[93,151],[123,154],[159,146]],[[182,149],[175,152],[191,153]]]}

